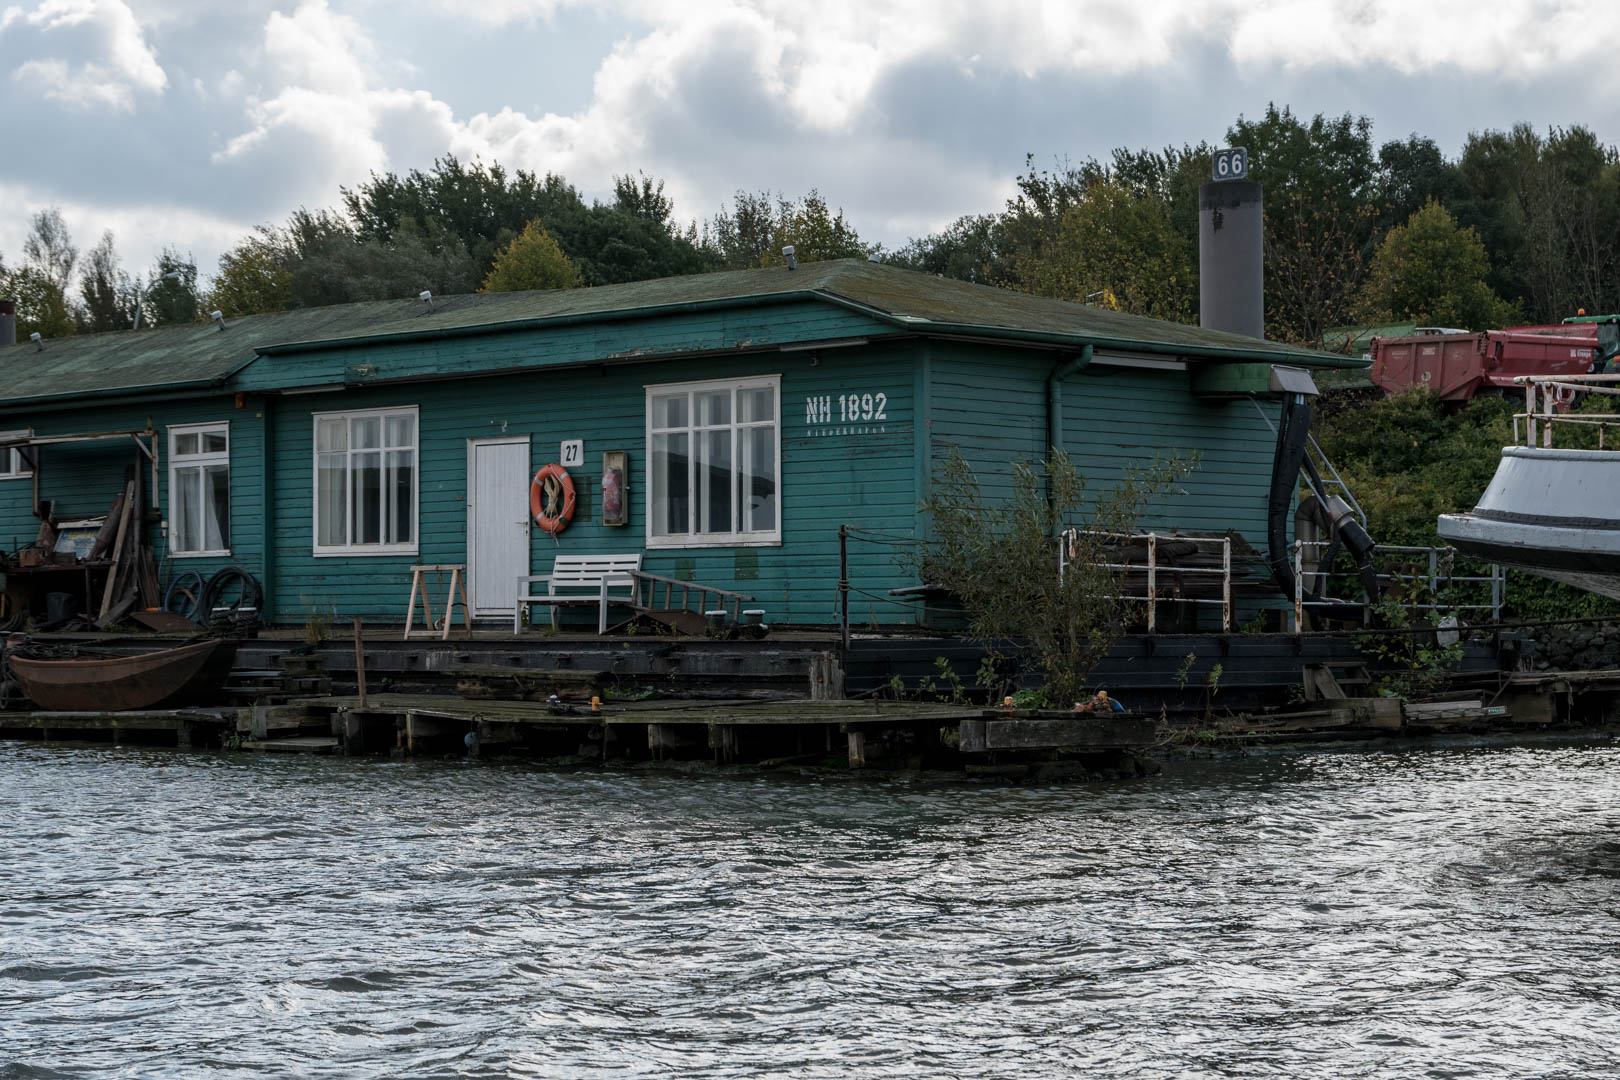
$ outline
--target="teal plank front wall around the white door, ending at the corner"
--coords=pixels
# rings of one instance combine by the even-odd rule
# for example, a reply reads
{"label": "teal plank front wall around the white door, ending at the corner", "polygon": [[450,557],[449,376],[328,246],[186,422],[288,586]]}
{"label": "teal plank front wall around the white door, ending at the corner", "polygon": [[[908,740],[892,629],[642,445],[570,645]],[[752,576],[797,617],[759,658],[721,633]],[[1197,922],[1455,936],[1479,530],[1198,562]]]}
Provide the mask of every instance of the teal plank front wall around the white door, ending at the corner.
{"label": "teal plank front wall around the white door, ending at the corner", "polygon": [[[551,538],[531,531],[530,565],[544,573],[557,552],[617,554],[646,549],[648,384],[760,374],[781,376],[782,544],[771,547],[646,549],[651,573],[695,580],[757,597],[778,625],[828,623],[836,610],[838,526],[910,536],[915,521],[910,345],[828,350],[750,359],[616,366],[606,371],[528,372],[454,384],[368,387],[288,397],[275,411],[275,609],[282,622],[311,612],[399,622],[410,567],[467,560],[467,440],[528,436],[531,468],[556,461],[564,439],[585,440],[572,471],[580,505]],[[836,423],[839,395],[886,393],[886,419]],[[807,423],[807,398],[828,397],[834,423]],[[313,554],[314,413],[415,405],[420,416],[420,542],[415,555]],[[630,455],[630,523],[603,526],[601,455]],[[526,494],[525,494],[526,497]],[[526,507],[525,507],[526,508]],[[907,578],[893,547],[852,552],[852,573],[881,594]],[[865,604],[865,601],[862,601]],[[885,604],[872,601],[883,617]],[[896,607],[888,604],[888,607]],[[865,612],[863,606],[852,610]],[[894,609],[909,619],[909,609]]]}

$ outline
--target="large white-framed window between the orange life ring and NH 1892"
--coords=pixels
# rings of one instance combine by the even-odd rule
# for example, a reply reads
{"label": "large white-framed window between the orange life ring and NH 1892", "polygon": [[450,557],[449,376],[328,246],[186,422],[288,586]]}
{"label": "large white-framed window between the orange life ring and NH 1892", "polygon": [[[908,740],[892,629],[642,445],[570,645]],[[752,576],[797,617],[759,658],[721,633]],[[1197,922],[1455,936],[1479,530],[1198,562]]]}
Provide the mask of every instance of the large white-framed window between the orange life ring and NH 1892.
{"label": "large white-framed window between the orange life ring and NH 1892", "polygon": [[781,377],[646,389],[654,547],[778,544]]}

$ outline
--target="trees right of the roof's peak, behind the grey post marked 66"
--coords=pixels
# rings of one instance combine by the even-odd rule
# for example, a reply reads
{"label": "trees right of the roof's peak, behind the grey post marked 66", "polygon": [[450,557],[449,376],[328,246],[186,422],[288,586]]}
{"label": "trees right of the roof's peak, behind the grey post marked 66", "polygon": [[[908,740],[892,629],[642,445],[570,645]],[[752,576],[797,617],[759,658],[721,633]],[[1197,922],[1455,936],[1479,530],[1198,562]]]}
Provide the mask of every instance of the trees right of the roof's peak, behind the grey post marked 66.
{"label": "trees right of the roof's peak, behind the grey post marked 66", "polygon": [[[1456,159],[1366,117],[1288,107],[1239,117],[1265,189],[1265,329],[1319,343],[1336,325],[1490,329],[1620,311],[1620,154],[1584,126],[1474,133]],[[1217,147],[1116,149],[1035,168],[996,214],[907,243],[946,277],[1196,322],[1199,186]]]}

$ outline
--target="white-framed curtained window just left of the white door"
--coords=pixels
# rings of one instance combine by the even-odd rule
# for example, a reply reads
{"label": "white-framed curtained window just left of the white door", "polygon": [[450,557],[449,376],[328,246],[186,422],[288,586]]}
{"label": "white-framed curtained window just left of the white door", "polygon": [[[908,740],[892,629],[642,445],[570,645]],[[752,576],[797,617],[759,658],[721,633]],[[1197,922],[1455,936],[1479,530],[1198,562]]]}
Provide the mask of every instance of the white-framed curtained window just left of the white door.
{"label": "white-framed curtained window just left of the white door", "polygon": [[314,415],[314,554],[416,551],[416,406]]}

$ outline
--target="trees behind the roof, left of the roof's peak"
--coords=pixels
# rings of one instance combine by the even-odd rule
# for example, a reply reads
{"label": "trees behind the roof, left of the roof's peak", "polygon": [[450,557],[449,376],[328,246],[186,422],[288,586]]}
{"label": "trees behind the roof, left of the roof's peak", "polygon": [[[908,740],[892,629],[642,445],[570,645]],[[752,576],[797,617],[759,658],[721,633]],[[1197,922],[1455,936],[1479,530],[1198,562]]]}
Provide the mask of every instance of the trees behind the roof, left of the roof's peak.
{"label": "trees behind the roof, left of the roof's peak", "polygon": [[[562,176],[446,157],[403,176],[373,173],[342,206],[300,207],[262,225],[199,283],[196,262],[167,248],[146,275],[128,274],[112,232],[84,256],[62,214],[34,215],[23,261],[0,259],[0,298],[18,300],[18,332],[152,327],[206,317],[399,300],[421,290],[611,285],[781,261],[873,254],[818,191],[799,198],[739,191],[705,222],[674,220],[664,183],[617,176],[611,201],[586,202]],[[139,319],[136,319],[139,313]]]}

